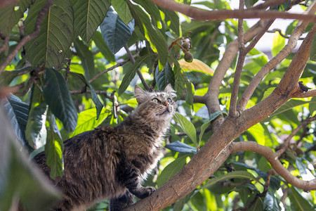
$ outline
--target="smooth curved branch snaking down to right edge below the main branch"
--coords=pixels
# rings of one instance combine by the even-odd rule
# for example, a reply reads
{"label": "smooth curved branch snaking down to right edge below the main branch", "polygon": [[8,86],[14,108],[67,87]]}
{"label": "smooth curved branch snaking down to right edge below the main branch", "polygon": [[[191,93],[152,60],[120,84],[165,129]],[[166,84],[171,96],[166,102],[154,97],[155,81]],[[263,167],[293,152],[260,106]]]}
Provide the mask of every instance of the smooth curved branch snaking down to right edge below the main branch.
{"label": "smooth curved branch snaking down to right edge below the main branch", "polygon": [[294,177],[286,168],[283,167],[282,163],[279,162],[277,153],[274,153],[268,146],[262,146],[255,141],[243,141],[243,142],[232,142],[230,144],[231,152],[237,153],[240,151],[253,151],[263,155],[271,164],[273,169],[281,175],[289,184],[301,188],[304,191],[316,190],[316,179],[311,181],[303,181]]}

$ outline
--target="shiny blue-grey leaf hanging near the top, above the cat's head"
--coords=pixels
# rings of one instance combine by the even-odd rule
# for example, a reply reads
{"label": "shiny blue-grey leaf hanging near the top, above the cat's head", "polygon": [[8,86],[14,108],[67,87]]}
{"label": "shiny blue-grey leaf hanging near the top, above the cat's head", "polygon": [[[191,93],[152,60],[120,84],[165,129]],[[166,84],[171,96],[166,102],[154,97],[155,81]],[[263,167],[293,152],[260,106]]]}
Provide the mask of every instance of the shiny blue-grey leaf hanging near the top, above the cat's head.
{"label": "shiny blue-grey leaf hanging near the top, above the cat's head", "polygon": [[131,21],[129,25],[125,25],[111,6],[100,28],[105,44],[107,44],[112,53],[117,53],[131,38],[134,30],[134,21]]}

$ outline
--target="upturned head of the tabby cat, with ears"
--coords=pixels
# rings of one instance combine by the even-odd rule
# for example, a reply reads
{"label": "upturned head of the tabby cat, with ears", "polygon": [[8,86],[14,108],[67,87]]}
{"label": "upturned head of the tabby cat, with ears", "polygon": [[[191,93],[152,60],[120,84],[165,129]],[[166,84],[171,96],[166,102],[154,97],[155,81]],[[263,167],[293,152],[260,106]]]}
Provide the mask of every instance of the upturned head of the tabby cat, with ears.
{"label": "upturned head of the tabby cat, with ears", "polygon": [[137,113],[145,120],[159,120],[170,122],[176,113],[176,91],[168,84],[164,91],[144,91],[140,87],[135,87],[135,96],[138,102]]}

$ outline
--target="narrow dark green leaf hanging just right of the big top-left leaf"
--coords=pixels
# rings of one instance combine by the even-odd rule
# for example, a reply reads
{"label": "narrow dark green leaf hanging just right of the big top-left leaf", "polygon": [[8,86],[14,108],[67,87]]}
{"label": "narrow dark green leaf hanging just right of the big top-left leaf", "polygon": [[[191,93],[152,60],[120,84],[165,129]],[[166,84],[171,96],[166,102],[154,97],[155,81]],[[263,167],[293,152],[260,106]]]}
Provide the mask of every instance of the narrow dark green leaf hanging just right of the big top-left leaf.
{"label": "narrow dark green leaf hanging just right of the big top-left leaf", "polygon": [[94,68],[93,53],[89,50],[88,46],[84,44],[80,39],[74,41],[74,47],[77,50],[77,54],[81,59],[82,67],[84,68],[84,76],[86,79],[91,79],[96,75],[96,69]]}

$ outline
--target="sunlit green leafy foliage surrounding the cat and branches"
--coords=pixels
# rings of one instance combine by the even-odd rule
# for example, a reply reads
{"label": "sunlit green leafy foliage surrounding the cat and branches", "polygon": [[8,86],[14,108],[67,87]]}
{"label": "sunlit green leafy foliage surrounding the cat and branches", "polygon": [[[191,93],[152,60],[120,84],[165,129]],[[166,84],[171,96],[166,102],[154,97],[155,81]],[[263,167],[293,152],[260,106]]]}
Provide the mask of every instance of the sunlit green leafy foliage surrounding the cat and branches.
{"label": "sunlit green leafy foliage surrounding the cat and branches", "polygon": [[[271,6],[270,10],[287,11],[291,2]],[[49,3],[40,30],[33,36],[39,27],[38,14]],[[246,7],[255,3],[246,1]],[[230,10],[229,1],[196,4]],[[306,1],[301,7],[305,10],[310,4]],[[30,158],[45,151],[51,178],[61,177],[62,140],[101,124],[117,125],[123,121],[137,106],[133,97],[136,84],[144,89],[164,89],[170,83],[178,94],[178,114],[166,137],[164,158],[145,185],[159,188],[169,181],[213,134],[211,122],[216,117],[226,117],[230,110],[237,56],[221,82],[220,112],[209,113],[198,99],[209,90],[213,70],[228,44],[237,39],[235,19],[199,21],[184,16],[185,21],[180,22],[177,12],[145,0],[20,0],[1,8],[0,17],[0,89],[1,94],[13,93],[6,98],[1,96],[1,113],[7,115],[1,115],[1,124],[11,125],[15,132],[8,138],[1,137],[1,210],[8,210],[17,197],[31,210],[41,210],[58,198],[55,190],[38,178],[26,156],[20,155],[20,148],[28,151]],[[297,24],[294,20],[284,34],[291,35]],[[249,29],[246,23],[243,27],[245,31]],[[312,24],[308,25],[305,32],[311,28]],[[33,39],[14,54],[15,47],[28,35]],[[184,52],[179,45],[168,48],[178,37],[192,41],[193,63],[183,61]],[[287,38],[275,34],[272,56],[277,56],[286,43]],[[289,53],[264,77],[246,108],[275,90],[294,54]],[[14,57],[6,64],[10,55]],[[311,53],[300,80],[315,89],[316,64],[312,56]],[[269,60],[256,48],[247,54],[239,98]],[[315,115],[315,109],[315,96],[291,99],[240,134],[235,142],[256,141],[277,151],[299,127],[279,160],[295,177],[315,179],[315,121],[302,124]],[[233,153],[210,179],[164,210],[315,210],[315,190],[298,189],[271,170],[263,155],[251,151]],[[45,193],[30,188],[38,184]],[[107,200],[91,207],[100,209],[107,209]]]}

